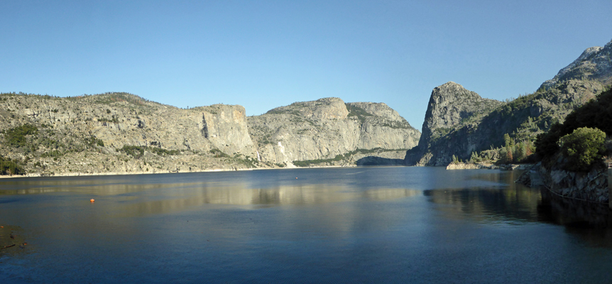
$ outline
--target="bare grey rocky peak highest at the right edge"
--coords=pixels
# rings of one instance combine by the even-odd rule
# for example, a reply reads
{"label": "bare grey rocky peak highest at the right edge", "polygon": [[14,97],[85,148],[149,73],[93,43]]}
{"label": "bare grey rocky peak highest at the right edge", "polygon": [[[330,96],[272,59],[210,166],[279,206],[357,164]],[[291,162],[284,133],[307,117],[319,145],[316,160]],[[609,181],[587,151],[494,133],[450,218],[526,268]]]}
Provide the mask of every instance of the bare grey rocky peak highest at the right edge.
{"label": "bare grey rocky peak highest at the right edge", "polygon": [[612,41],[603,47],[586,48],[577,60],[559,70],[551,80],[542,83],[542,87],[548,89],[558,82],[581,79],[612,83]]}

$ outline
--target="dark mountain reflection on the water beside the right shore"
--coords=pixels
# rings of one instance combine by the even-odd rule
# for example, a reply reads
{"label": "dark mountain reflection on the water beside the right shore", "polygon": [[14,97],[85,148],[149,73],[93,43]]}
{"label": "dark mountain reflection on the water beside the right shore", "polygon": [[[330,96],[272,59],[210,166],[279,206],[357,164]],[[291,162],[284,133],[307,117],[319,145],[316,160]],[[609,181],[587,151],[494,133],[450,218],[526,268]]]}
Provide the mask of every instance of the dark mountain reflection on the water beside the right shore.
{"label": "dark mountain reflection on the water beside the right shore", "polygon": [[570,200],[552,195],[545,188],[515,183],[517,173],[486,173],[471,178],[504,182],[504,187],[466,187],[424,190],[423,195],[451,219],[476,219],[484,223],[557,224],[593,246],[612,247],[612,210],[607,204]]}

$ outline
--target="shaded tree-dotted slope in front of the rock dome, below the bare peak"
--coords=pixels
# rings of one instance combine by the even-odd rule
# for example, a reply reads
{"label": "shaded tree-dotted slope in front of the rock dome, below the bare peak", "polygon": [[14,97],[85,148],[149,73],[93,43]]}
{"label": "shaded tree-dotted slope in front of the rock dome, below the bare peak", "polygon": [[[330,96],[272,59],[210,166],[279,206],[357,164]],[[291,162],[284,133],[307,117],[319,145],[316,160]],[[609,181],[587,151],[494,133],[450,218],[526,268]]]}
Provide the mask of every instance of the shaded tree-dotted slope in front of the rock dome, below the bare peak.
{"label": "shaded tree-dotted slope in front of the rock dome, below the bare peak", "polygon": [[[603,84],[596,81],[570,80],[501,104],[488,113],[444,129],[444,132],[432,131],[432,139],[421,139],[424,142],[420,142],[418,148],[408,151],[406,163],[445,166],[451,163],[452,155],[467,160],[472,152],[503,146],[506,133],[517,141],[534,139],[554,121],[563,121],[570,111],[592,99],[603,88]],[[423,133],[426,133],[425,126]]]}

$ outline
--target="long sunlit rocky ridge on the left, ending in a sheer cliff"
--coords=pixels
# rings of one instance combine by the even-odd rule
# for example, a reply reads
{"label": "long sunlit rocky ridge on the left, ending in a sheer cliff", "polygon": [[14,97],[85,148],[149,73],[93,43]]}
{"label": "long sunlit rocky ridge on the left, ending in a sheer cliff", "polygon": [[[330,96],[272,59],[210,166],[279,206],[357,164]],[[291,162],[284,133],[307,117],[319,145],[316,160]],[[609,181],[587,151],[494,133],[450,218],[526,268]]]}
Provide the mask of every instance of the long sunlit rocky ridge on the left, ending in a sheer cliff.
{"label": "long sunlit rocky ridge on the left, ending in a sheer cliff", "polygon": [[[3,94],[0,109],[0,131],[23,124],[38,128],[21,146],[10,145],[0,133],[1,155],[23,161],[28,173],[248,168],[245,159],[256,157],[241,106],[178,109],[125,93],[69,98]],[[124,146],[146,150],[131,155]],[[236,155],[242,158],[231,158]]]}

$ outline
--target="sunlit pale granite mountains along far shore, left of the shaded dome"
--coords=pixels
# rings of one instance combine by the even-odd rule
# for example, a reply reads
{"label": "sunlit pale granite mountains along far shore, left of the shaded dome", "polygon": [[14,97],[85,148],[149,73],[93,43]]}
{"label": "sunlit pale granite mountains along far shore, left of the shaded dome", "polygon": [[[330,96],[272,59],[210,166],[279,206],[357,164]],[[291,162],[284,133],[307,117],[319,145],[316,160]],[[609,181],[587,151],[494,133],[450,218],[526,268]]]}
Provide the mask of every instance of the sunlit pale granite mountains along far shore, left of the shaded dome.
{"label": "sunlit pale granite mountains along far shore, left of the shaded dome", "polygon": [[14,165],[81,175],[394,164],[419,136],[386,104],[337,98],[247,117],[238,105],[178,109],[127,93],[0,94],[0,173]]}

